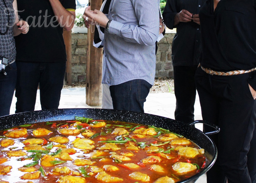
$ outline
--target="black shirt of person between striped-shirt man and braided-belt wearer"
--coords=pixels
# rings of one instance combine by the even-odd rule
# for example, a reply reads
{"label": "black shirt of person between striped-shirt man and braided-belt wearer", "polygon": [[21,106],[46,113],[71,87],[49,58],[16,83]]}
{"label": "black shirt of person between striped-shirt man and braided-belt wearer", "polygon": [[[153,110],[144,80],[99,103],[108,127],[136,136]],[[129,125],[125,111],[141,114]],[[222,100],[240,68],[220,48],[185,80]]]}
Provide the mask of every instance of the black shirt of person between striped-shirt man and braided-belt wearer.
{"label": "black shirt of person between striped-shirt man and braided-belt wearer", "polygon": [[176,28],[172,42],[172,62],[174,66],[193,66],[200,59],[200,25],[190,21],[174,26],[174,17],[182,9],[198,14],[206,0],[167,0],[163,19],[169,29]]}

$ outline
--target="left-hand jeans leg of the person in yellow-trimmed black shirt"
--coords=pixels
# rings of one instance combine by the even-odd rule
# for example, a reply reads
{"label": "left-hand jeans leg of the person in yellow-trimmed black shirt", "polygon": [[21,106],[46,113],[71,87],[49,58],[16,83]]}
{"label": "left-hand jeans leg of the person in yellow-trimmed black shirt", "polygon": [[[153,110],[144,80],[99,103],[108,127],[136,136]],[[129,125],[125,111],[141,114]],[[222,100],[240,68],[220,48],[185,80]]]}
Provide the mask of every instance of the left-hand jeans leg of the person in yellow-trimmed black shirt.
{"label": "left-hand jeans leg of the person in yellow-trimmed black shirt", "polygon": [[36,92],[40,78],[40,62],[18,62],[17,84],[15,96],[17,98],[16,111],[27,112],[35,109]]}

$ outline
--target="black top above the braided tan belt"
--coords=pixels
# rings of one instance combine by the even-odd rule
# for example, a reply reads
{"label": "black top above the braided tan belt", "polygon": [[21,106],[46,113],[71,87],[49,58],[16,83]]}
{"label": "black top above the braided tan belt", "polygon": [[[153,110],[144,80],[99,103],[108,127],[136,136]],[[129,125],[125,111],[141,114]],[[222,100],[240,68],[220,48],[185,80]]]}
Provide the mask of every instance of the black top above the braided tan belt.
{"label": "black top above the braided tan belt", "polygon": [[[221,0],[215,11],[213,0],[207,0],[199,16],[203,67],[215,71],[256,67],[254,0]],[[256,82],[249,83],[256,89]]]}

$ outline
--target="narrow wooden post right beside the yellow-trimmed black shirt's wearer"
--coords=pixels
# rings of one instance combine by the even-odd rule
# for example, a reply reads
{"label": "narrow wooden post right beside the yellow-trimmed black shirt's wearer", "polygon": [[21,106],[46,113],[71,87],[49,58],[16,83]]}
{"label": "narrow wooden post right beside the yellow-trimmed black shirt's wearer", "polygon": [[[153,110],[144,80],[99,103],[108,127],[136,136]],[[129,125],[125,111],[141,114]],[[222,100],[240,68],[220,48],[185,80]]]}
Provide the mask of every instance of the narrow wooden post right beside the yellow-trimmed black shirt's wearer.
{"label": "narrow wooden post right beside the yellow-trimmed black shirt's wearer", "polygon": [[70,31],[66,31],[63,30],[63,39],[64,39],[64,43],[66,46],[66,54],[67,54],[67,62],[66,62],[66,73],[65,73],[65,78],[64,78],[64,82],[65,85],[71,85],[72,82],[72,48],[71,48],[71,30]]}

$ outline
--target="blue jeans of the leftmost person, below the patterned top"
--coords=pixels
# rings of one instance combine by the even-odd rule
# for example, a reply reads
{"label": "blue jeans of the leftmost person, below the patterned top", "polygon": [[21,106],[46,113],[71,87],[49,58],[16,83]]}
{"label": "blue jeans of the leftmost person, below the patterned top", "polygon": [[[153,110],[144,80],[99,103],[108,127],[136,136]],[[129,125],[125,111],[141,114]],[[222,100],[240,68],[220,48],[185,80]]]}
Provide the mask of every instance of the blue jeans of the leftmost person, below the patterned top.
{"label": "blue jeans of the leftmost person, below the patterned top", "polygon": [[17,80],[16,62],[5,67],[4,75],[0,72],[0,116],[10,114],[12,98]]}

